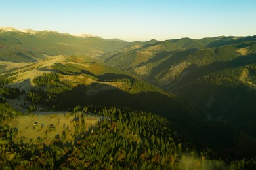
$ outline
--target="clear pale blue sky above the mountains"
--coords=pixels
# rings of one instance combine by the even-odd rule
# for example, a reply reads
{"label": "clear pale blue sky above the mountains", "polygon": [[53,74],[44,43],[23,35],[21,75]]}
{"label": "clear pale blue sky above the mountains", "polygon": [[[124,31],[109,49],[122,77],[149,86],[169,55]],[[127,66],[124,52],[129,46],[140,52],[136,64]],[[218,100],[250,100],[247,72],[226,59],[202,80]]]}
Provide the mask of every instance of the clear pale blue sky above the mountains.
{"label": "clear pale blue sky above the mountains", "polygon": [[0,27],[127,41],[256,35],[256,0],[0,0]]}

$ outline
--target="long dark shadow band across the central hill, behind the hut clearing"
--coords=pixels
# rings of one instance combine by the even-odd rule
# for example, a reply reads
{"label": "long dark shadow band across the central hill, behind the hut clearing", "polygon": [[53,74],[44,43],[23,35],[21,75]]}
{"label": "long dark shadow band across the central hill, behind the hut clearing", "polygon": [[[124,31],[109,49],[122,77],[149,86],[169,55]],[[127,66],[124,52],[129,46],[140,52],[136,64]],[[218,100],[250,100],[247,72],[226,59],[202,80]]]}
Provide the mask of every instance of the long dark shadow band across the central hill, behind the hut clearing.
{"label": "long dark shadow band across the central hill, behind the hut clearing", "polygon": [[72,110],[77,105],[128,107],[169,118],[204,119],[203,113],[198,108],[179,98],[168,97],[158,92],[131,94],[114,86],[98,82],[57,93],[56,97],[51,97],[50,100],[42,99],[39,104],[48,107],[54,105],[57,110]]}

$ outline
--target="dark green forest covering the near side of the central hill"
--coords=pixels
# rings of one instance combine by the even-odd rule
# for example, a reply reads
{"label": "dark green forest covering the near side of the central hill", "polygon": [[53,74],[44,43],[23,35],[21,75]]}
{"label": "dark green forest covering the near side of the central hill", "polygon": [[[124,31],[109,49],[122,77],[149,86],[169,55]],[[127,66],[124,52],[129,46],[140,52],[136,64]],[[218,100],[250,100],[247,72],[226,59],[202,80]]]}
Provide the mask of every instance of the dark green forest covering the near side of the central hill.
{"label": "dark green forest covering the near side of the central hill", "polygon": [[28,93],[28,100],[34,104],[54,108],[54,110],[72,110],[76,105],[131,107],[168,117],[203,119],[202,112],[196,107],[174,96],[161,93],[159,88],[137,80],[133,82],[124,79],[124,83],[120,89],[96,82],[88,86],[81,85],[73,88],[65,84],[38,88]]}

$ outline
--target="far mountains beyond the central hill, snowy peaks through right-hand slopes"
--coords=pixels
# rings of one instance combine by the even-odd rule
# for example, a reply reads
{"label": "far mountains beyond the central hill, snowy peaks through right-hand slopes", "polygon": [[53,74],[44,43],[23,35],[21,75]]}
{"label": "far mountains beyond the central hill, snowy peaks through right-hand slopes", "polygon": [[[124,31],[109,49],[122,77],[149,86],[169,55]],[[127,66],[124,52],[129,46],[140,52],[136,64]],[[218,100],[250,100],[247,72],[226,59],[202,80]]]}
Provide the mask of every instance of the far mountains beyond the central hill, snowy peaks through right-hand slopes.
{"label": "far mountains beyond the central hill, snowy peaks through right-hand slopes", "polygon": [[[209,119],[237,120],[244,110],[256,117],[256,103],[243,101],[242,93],[232,95],[242,90],[256,97],[255,91],[250,91],[256,86],[256,36],[126,42],[54,31],[0,30],[1,61],[35,62],[56,55],[81,54],[190,99],[209,114]],[[233,97],[237,101],[229,102]],[[228,105],[220,105],[223,98]],[[239,103],[244,104],[231,109]],[[222,107],[229,109],[217,113]]]}

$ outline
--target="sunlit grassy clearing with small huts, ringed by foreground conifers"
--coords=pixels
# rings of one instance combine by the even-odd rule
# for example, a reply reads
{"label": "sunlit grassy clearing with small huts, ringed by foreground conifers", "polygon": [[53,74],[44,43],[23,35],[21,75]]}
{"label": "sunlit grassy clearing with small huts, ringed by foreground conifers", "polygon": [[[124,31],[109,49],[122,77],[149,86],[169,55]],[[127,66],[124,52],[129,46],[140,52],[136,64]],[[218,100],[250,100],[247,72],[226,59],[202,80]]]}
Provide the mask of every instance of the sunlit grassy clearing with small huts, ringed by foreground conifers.
{"label": "sunlit grassy clearing with small huts, ringed by foreground conifers", "polygon": [[[84,127],[81,123],[82,120],[85,122]],[[26,143],[38,143],[40,141],[45,144],[51,144],[57,135],[59,135],[60,139],[63,139],[63,131],[65,131],[63,142],[74,141],[75,133],[88,131],[89,127],[93,127],[98,120],[99,116],[87,114],[81,116],[79,113],[32,112],[28,115],[18,116],[13,120],[2,122],[2,125],[9,124],[11,128],[18,128],[16,142],[23,140]],[[51,124],[54,127],[51,127]],[[77,132],[75,132],[75,129]]]}

